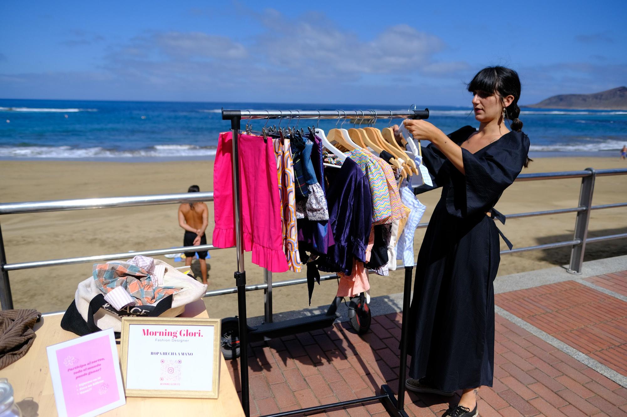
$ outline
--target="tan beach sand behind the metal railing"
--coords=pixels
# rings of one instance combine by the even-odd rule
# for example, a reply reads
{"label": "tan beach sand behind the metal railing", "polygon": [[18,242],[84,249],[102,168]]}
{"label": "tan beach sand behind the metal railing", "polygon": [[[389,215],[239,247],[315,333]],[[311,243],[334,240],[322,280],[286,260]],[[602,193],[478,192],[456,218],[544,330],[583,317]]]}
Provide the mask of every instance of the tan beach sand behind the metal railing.
{"label": "tan beach sand behind the metal railing", "polygon": [[[627,168],[618,158],[537,158],[524,172],[552,172],[593,168]],[[65,198],[111,197],[186,192],[189,185],[201,190],[213,188],[213,162],[65,162],[0,161],[0,201],[59,200]],[[518,182],[503,194],[497,209],[503,214],[576,207],[581,179]],[[440,190],[420,195],[428,209],[426,222]],[[627,175],[599,177],[594,204],[627,201]],[[213,230],[213,204],[209,203],[208,240]],[[589,235],[627,232],[627,209],[594,210]],[[572,239],[575,214],[510,219],[498,227],[515,247],[539,245]],[[5,215],[0,224],[9,263],[112,254],[182,245],[183,230],[177,223],[177,205],[154,205],[119,209],[75,210],[40,214]],[[418,254],[424,230],[416,232]],[[502,243],[502,249],[506,249]],[[209,289],[234,287],[234,249],[213,250],[208,261]],[[627,253],[627,239],[591,243],[586,260]],[[499,275],[536,270],[569,262],[568,248],[535,250],[503,255]],[[159,257],[164,259],[164,257]],[[248,284],[263,282],[263,270],[245,257]],[[174,263],[183,265],[182,262]],[[92,274],[91,264],[79,264],[10,272],[16,308],[36,308],[41,312],[65,310],[71,303],[78,282]],[[303,277],[304,274],[274,274],[274,281]],[[372,296],[403,291],[403,272],[390,277],[371,275]],[[335,281],[316,286],[312,306],[329,304],[335,296]],[[274,311],[307,307],[307,286],[275,289]],[[212,317],[237,314],[236,295],[204,299]],[[248,292],[248,316],[263,315],[263,291]]]}

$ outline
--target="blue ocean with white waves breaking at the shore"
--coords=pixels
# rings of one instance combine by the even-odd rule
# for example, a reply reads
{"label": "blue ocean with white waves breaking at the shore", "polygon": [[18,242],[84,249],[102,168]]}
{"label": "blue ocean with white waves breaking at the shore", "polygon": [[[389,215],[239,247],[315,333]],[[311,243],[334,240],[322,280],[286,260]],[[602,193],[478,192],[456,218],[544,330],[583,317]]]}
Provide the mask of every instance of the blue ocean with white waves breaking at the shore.
{"label": "blue ocean with white waves breaking at the shore", "polygon": [[[221,108],[251,110],[406,110],[407,106],[277,103],[184,103],[0,99],[0,159],[63,160],[208,159],[218,133],[230,128]],[[417,106],[424,108],[425,106]],[[449,133],[478,126],[472,109],[428,106],[429,121]],[[520,119],[532,155],[617,156],[627,144],[627,111],[523,108]],[[287,118],[282,126],[288,125]],[[393,123],[398,123],[394,120]],[[296,120],[289,123],[295,126]],[[300,121],[305,127],[315,120]],[[342,123],[339,121],[338,126]],[[265,121],[253,122],[260,130]],[[277,125],[278,120],[271,120]],[[335,121],[321,120],[328,130]],[[376,126],[385,127],[388,120]],[[350,121],[344,128],[352,127]]]}

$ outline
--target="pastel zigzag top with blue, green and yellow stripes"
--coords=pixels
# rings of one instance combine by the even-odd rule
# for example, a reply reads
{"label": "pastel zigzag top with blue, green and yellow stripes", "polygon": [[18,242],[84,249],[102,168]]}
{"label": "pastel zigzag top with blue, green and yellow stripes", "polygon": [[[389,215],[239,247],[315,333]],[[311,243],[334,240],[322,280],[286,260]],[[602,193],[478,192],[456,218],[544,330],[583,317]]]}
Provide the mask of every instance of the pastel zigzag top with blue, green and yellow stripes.
{"label": "pastel zigzag top with blue, green and yellow stripes", "polygon": [[389,223],[392,216],[390,193],[387,188],[386,174],[372,155],[363,149],[352,150],[347,156],[366,174],[372,195],[372,224]]}

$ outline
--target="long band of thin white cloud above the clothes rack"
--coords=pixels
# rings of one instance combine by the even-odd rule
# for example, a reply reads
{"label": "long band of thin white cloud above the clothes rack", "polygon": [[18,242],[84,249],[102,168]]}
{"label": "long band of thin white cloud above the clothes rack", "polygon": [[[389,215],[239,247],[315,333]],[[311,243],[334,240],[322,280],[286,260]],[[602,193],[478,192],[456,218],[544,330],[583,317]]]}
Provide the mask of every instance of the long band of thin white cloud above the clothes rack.
{"label": "long band of thin white cloud above the clothes rack", "polygon": [[[162,85],[181,77],[229,83],[287,86],[303,82],[354,82],[368,75],[433,75],[465,68],[463,63],[438,62],[433,55],[446,48],[432,34],[406,24],[373,31],[372,39],[340,28],[319,13],[286,19],[275,10],[255,16],[263,32],[250,43],[202,32],[151,32],[110,49],[103,68],[125,76],[144,74]],[[202,63],[198,65],[198,63]],[[163,81],[157,81],[159,78]]]}

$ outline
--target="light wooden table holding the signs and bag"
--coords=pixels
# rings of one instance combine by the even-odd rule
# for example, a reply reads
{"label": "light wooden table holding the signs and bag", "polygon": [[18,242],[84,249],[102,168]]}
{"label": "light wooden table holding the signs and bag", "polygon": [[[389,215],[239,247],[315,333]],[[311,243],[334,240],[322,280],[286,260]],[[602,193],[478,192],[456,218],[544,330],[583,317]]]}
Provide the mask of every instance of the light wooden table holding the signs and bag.
{"label": "light wooden table holding the signs and bag", "polygon": [[[55,394],[48,369],[46,346],[74,339],[76,334],[61,329],[63,314],[41,317],[34,327],[33,345],[23,358],[0,370],[0,378],[13,385],[14,398],[24,417],[56,416]],[[209,317],[204,302],[188,304],[181,317]],[[120,346],[118,346],[119,353]],[[218,399],[137,398],[127,397],[126,404],[103,416],[243,416],[240,398],[220,356],[220,391]]]}

